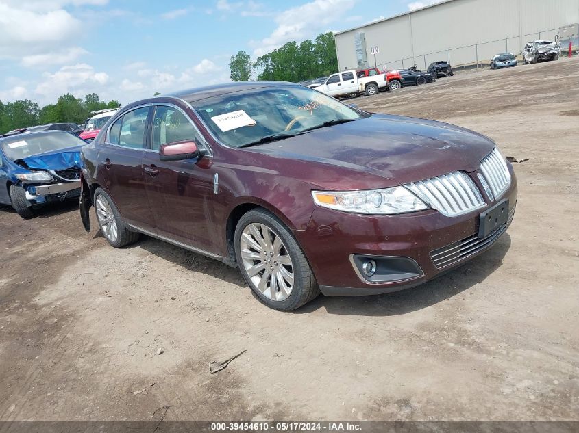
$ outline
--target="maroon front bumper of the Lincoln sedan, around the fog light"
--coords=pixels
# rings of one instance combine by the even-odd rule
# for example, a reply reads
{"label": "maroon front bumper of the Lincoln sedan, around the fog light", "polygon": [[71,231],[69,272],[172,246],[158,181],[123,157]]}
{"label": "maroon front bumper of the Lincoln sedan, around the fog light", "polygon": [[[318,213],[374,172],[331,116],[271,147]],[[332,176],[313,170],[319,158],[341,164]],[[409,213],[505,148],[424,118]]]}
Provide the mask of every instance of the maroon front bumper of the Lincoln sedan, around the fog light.
{"label": "maroon front bumper of the Lincoln sedan, around the fog light", "polygon": [[[513,168],[509,170],[510,187],[500,200],[508,198],[510,218],[482,239],[478,238],[479,215],[495,202],[452,218],[432,209],[403,215],[358,215],[317,207],[308,228],[296,236],[321,292],[326,296],[358,296],[399,291],[432,280],[489,249],[504,234],[515,212],[517,179]],[[386,260],[406,258],[418,268],[413,274],[400,272],[406,278],[372,282],[356,270],[353,254]]]}

